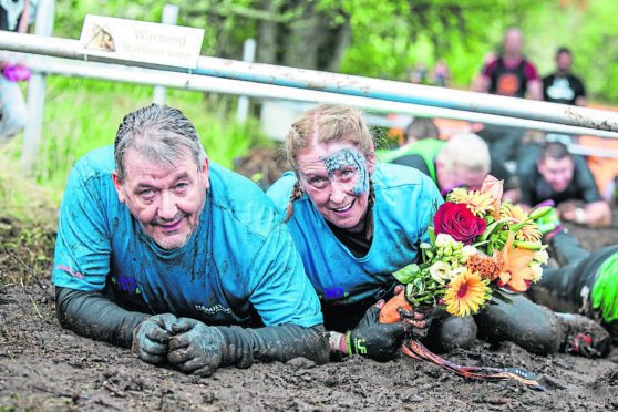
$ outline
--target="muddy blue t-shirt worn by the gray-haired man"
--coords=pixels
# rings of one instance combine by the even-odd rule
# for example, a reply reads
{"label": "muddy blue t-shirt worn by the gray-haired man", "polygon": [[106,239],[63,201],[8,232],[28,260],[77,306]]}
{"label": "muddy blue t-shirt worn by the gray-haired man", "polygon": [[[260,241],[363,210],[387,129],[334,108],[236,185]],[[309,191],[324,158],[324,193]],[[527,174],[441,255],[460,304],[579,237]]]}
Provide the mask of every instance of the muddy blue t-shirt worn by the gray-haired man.
{"label": "muddy blue t-shirt worn by the gray-haired man", "polygon": [[[60,208],[52,279],[103,290],[128,310],[172,312],[207,325],[322,323],[288,228],[250,181],[210,162],[199,225],[165,250],[119,200],[113,147],[75,163]],[[259,320],[259,319],[258,319]]]}

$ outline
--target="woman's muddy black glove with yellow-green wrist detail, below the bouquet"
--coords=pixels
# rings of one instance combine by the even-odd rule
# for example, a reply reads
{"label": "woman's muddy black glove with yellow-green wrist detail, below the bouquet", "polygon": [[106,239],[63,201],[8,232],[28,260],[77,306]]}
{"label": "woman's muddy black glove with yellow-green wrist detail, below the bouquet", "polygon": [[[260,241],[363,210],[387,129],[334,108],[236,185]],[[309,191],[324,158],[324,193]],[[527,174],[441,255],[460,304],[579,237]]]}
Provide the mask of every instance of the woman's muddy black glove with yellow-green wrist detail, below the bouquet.
{"label": "woman's muddy black glove with yellow-green wrist detail, below the bouquet", "polygon": [[370,359],[385,362],[391,360],[403,342],[403,337],[411,326],[404,322],[380,323],[380,305],[367,310],[359,325],[347,334],[348,352],[362,354]]}

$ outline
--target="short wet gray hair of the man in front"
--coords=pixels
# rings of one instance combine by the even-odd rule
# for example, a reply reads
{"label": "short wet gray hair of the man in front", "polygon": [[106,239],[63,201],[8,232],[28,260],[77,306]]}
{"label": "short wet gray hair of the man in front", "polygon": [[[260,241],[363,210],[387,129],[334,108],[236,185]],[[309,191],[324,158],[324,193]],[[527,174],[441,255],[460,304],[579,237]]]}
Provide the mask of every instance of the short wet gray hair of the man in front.
{"label": "short wet gray hair of the man in front", "polygon": [[173,168],[187,154],[197,167],[206,158],[193,123],[179,110],[159,104],[138,109],[122,120],[114,141],[116,174],[121,182],[125,178],[124,158],[130,148],[166,168]]}

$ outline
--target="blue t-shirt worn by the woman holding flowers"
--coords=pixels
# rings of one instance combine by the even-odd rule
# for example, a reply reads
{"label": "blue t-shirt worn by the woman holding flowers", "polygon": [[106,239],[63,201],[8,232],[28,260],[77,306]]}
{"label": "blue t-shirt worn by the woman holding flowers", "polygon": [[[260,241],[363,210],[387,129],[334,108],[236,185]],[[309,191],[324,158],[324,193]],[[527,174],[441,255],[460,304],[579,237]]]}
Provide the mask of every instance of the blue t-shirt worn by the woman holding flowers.
{"label": "blue t-shirt worn by the woman holding flowers", "polygon": [[[307,276],[329,305],[352,305],[381,298],[395,281],[391,275],[416,260],[419,246],[429,243],[428,226],[443,203],[435,184],[419,171],[378,164],[371,175],[375,190],[373,240],[369,253],[356,258],[337,239],[306,194],[293,203],[288,222]],[[288,172],[267,192],[285,213],[296,183]]]}

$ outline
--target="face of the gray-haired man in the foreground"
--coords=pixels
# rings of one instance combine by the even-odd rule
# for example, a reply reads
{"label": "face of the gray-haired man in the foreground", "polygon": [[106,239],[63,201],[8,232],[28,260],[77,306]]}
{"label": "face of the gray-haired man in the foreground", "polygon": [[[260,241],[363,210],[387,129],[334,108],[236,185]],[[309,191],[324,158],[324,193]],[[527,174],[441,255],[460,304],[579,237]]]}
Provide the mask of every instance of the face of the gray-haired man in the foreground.
{"label": "face of the gray-haired man in the foreground", "polygon": [[130,148],[124,163],[124,182],[113,174],[120,202],[163,249],[185,245],[197,229],[206,199],[208,161],[198,167],[186,154],[168,169]]}

